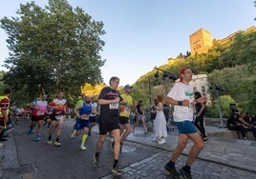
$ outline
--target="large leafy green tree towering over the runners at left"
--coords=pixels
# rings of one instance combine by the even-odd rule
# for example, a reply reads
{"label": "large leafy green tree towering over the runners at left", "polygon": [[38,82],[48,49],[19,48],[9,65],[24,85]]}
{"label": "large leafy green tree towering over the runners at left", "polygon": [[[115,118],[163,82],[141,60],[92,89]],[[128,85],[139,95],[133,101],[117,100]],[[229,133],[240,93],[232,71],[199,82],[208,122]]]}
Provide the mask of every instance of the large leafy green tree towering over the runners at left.
{"label": "large leafy green tree towering over the runners at left", "polygon": [[33,98],[42,89],[73,96],[85,83],[102,82],[102,22],[78,7],[73,10],[66,0],[49,0],[45,9],[27,3],[17,14],[1,19],[9,36],[6,84]]}

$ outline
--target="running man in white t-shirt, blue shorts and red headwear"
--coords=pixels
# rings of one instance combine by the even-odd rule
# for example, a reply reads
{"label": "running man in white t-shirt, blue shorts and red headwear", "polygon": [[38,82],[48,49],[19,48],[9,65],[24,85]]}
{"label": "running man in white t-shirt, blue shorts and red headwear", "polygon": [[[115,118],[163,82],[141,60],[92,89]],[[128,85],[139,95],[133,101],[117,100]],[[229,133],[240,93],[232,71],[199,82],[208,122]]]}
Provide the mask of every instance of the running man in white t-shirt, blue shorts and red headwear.
{"label": "running man in white t-shirt, blue shorts and red headwear", "polygon": [[[191,177],[191,165],[203,149],[203,140],[193,121],[193,106],[198,102],[205,101],[205,97],[194,99],[193,88],[189,86],[192,80],[193,72],[190,69],[180,70],[180,81],[174,85],[166,97],[166,102],[174,106],[173,117],[179,130],[179,140],[176,149],[174,149],[171,159],[164,169],[168,170],[173,176],[183,178]],[[182,150],[186,147],[188,139],[191,139],[194,146],[190,149],[185,166],[180,172],[175,168],[175,163],[180,157]]]}

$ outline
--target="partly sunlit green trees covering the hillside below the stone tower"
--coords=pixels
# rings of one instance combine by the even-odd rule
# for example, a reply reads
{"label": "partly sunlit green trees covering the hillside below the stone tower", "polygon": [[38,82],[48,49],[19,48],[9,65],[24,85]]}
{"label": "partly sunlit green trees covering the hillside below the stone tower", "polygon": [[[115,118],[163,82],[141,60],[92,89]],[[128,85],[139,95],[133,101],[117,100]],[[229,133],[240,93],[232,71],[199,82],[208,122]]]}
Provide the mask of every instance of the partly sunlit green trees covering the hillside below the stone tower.
{"label": "partly sunlit green trees covering the hillside below the stone tower", "polygon": [[[213,47],[204,54],[195,54],[185,58],[172,59],[172,63],[161,66],[160,69],[178,74],[182,67],[191,68],[195,74],[206,73],[208,81],[224,87],[221,95],[230,95],[241,108],[246,111],[256,111],[256,29],[237,33],[235,38],[225,42],[214,41]],[[141,76],[135,86],[145,93],[145,86],[150,78],[152,89],[164,86],[164,80],[155,78],[156,70]],[[168,89],[173,83],[168,81]],[[160,91],[158,91],[159,94]],[[158,94],[155,94],[158,95]],[[215,93],[211,91],[212,100]],[[222,97],[222,96],[221,96]],[[218,109],[217,107],[209,109]],[[216,112],[213,112],[216,113]],[[216,115],[216,114],[214,114]],[[225,113],[224,113],[225,115]]]}

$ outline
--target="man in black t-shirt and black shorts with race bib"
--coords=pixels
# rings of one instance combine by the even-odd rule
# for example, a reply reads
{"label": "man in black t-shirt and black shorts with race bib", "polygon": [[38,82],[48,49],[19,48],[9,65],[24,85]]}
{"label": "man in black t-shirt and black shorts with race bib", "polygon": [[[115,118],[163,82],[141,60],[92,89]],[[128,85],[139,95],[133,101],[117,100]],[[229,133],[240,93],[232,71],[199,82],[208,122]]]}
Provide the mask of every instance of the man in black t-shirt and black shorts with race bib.
{"label": "man in black t-shirt and black shorts with race bib", "polygon": [[114,137],[114,165],[112,168],[113,173],[118,175],[122,174],[122,171],[118,167],[118,157],[120,150],[120,127],[118,125],[119,117],[119,102],[121,96],[117,91],[119,85],[119,78],[114,76],[109,81],[109,87],[106,87],[100,91],[98,97],[98,105],[100,105],[100,112],[98,117],[99,137],[96,143],[96,153],[94,155],[95,167],[99,165],[99,152],[107,137],[107,133],[111,131]]}

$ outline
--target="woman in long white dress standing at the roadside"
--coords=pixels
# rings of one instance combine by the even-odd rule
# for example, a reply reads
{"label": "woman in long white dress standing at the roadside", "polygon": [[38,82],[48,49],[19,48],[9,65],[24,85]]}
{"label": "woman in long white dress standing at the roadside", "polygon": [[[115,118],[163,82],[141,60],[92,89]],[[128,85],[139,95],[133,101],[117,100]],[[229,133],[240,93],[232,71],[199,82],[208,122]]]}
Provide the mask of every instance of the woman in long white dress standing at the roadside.
{"label": "woman in long white dress standing at the roadside", "polygon": [[162,103],[159,102],[155,108],[157,110],[156,119],[154,120],[155,139],[159,144],[164,144],[166,143],[167,129]]}

